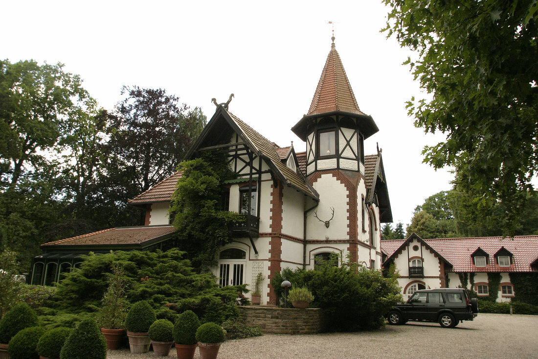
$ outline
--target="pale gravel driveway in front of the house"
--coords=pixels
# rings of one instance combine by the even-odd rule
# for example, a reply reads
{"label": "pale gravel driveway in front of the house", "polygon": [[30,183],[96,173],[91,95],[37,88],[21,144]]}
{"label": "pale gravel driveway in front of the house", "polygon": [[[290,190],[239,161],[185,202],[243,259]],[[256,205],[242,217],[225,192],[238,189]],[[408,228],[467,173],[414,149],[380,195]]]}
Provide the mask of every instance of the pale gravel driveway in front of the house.
{"label": "pale gravel driveway in front of the house", "polygon": [[[108,359],[153,358],[130,354],[128,349],[108,351]],[[172,348],[168,358],[175,358]],[[536,358],[538,316],[479,314],[454,329],[437,323],[408,322],[373,332],[308,335],[265,334],[224,342],[218,359],[277,358]],[[194,355],[200,358],[198,350]]]}

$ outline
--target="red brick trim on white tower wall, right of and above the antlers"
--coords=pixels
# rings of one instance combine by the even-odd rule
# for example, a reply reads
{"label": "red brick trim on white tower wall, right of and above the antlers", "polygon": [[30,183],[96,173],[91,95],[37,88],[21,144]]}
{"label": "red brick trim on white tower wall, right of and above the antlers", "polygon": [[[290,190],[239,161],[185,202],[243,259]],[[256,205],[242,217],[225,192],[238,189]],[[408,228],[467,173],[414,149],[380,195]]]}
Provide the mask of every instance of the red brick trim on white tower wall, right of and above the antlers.
{"label": "red brick trim on white tower wall, right of and above the antlers", "polygon": [[313,185],[322,175],[329,174],[332,177],[335,177],[340,183],[342,183],[345,189],[348,191],[347,205],[348,205],[348,236],[351,240],[348,251],[351,254],[350,260],[356,262],[358,261],[358,245],[356,242],[359,239],[358,233],[358,213],[357,213],[357,188],[358,185],[364,177],[360,174],[357,174],[356,178],[350,178],[343,174],[341,170],[328,170],[328,171],[317,171],[308,177],[308,182],[310,185]]}

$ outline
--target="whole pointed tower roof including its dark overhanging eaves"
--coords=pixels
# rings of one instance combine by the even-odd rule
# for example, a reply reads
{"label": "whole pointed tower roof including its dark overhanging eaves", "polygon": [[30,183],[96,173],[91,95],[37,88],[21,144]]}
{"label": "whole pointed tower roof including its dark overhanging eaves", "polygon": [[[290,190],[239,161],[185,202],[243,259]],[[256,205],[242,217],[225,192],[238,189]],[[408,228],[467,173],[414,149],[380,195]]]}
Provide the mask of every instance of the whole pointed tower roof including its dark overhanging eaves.
{"label": "whole pointed tower roof including its dark overhanging eaves", "polygon": [[379,131],[372,116],[360,111],[348,75],[336,51],[334,37],[332,40],[331,50],[323,66],[308,113],[292,128],[292,131],[303,141],[306,141],[309,120],[322,114],[343,114],[360,119],[360,121],[357,120],[360,122],[357,126],[360,127],[365,139]]}

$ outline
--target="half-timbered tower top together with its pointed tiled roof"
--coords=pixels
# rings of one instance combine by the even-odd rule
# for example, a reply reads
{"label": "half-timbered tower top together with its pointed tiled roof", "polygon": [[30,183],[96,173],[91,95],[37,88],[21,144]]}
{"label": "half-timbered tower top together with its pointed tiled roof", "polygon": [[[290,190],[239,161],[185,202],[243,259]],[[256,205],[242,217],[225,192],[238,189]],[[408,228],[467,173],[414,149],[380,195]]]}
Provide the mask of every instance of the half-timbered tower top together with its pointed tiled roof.
{"label": "half-timbered tower top together with its pointed tiled roof", "polygon": [[306,175],[341,169],[364,175],[364,140],[378,132],[357,104],[334,36],[308,113],[292,128],[306,142]]}

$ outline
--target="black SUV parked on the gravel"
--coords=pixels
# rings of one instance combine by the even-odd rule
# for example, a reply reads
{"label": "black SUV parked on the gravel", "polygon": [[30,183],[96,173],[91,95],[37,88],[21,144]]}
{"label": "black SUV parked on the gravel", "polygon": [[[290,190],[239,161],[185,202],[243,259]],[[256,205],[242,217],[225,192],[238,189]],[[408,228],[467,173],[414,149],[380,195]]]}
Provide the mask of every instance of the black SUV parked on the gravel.
{"label": "black SUV parked on the gravel", "polygon": [[454,328],[458,322],[475,319],[477,313],[478,300],[470,298],[466,289],[439,288],[416,291],[406,303],[392,307],[386,318],[391,325],[423,320]]}

